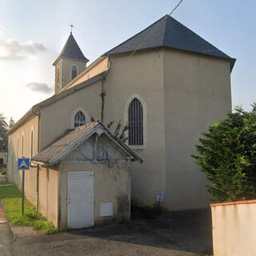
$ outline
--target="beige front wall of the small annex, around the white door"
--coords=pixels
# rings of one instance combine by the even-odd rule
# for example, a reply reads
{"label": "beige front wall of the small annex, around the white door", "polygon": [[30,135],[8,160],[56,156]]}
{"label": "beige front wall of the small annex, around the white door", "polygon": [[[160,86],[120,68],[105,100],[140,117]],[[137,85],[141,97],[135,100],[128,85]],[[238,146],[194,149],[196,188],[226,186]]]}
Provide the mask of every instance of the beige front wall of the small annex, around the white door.
{"label": "beige front wall of the small annex, around the white door", "polygon": [[[120,203],[124,195],[129,194],[129,181],[126,163],[114,164],[110,169],[106,163],[91,162],[63,162],[61,172],[61,230],[66,230],[66,199],[67,199],[67,173],[72,171],[92,171],[94,173],[94,225],[110,223],[113,220],[130,218],[130,202],[125,209]],[[113,202],[113,217],[100,217],[100,203]],[[126,211],[123,212],[120,210]]]}

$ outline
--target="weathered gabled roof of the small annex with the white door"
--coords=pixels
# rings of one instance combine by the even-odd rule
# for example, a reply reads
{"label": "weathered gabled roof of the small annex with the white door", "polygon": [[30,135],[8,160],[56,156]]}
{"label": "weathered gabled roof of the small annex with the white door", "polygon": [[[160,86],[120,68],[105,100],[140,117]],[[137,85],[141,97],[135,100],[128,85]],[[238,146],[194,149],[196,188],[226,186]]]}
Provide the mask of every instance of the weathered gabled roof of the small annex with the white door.
{"label": "weathered gabled roof of the small annex with the white door", "polygon": [[[70,154],[72,150],[74,150],[77,146],[82,142],[89,138],[90,135],[94,134],[94,130],[97,126],[100,126],[102,130],[105,130],[105,133],[110,136],[118,145],[122,148],[122,150],[126,150],[127,154],[133,156],[134,160],[142,162],[142,159],[134,153],[133,150],[130,150],[128,146],[126,146],[119,138],[117,138],[114,134],[111,134],[105,126],[102,125],[101,122],[90,122],[84,126],[80,126],[73,130],[67,130],[64,134],[58,137],[54,142],[52,142],[49,146],[46,146],[45,149],[41,150],[38,154],[36,154],[32,161],[43,162],[47,166],[53,166],[59,161],[58,156],[60,154],[66,155]],[[72,150],[70,150],[72,149]],[[65,154],[66,153],[66,154]]]}

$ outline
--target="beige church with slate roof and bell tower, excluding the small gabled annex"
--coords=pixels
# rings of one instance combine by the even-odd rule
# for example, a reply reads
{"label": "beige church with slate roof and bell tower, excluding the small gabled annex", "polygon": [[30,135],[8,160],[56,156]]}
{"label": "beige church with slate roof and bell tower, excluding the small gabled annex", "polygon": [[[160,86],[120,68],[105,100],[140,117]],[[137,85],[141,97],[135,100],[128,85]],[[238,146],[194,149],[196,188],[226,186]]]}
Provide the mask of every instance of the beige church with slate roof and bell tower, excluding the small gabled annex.
{"label": "beige church with slate roof and bell tower, excluding the small gabled annex", "polygon": [[129,148],[126,159],[135,160],[129,163],[131,198],[154,206],[162,192],[168,210],[209,206],[205,174],[190,154],[200,134],[231,110],[235,59],[166,15],[87,62],[71,33],[53,63],[54,95],[33,106],[8,133],[8,180],[21,189],[17,159],[31,158],[26,198],[40,210],[43,152],[70,130],[114,122],[112,133],[118,123],[120,130],[128,126],[121,150]]}

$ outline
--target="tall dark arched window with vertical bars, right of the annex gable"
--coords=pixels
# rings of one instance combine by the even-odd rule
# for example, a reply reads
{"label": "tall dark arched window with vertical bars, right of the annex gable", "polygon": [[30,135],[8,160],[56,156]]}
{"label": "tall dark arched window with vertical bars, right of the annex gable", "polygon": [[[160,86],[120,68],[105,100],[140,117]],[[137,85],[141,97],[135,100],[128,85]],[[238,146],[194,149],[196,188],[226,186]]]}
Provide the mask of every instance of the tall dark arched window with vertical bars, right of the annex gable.
{"label": "tall dark arched window with vertical bars, right of the annex gable", "polygon": [[143,108],[138,98],[129,106],[129,145],[143,145]]}

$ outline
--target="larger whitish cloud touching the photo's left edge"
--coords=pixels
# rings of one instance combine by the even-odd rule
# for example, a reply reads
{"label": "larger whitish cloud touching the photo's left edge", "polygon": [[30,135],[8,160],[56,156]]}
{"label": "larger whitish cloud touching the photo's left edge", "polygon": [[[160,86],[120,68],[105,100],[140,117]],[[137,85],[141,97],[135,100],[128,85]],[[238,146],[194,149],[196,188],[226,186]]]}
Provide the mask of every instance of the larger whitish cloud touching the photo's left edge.
{"label": "larger whitish cloud touching the photo's left edge", "polygon": [[4,27],[0,26],[0,60],[19,60],[45,50],[46,47],[39,42],[18,42],[13,38],[6,38]]}

